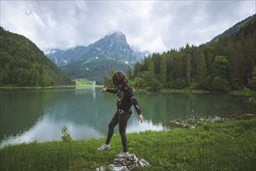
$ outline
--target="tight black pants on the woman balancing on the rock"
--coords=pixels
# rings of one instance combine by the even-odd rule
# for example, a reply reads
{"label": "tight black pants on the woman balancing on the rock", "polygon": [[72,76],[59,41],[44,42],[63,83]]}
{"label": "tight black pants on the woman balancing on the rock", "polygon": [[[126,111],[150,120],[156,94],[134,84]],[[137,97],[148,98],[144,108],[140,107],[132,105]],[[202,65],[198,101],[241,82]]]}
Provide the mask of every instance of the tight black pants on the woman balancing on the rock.
{"label": "tight black pants on the woman balancing on the rock", "polygon": [[110,140],[114,134],[114,127],[119,123],[119,134],[121,135],[121,141],[123,145],[123,152],[127,152],[127,138],[126,138],[126,126],[128,123],[128,119],[131,117],[132,113],[124,112],[124,113],[114,113],[114,117],[108,124],[108,133],[107,133],[107,140],[106,144],[110,144]]}

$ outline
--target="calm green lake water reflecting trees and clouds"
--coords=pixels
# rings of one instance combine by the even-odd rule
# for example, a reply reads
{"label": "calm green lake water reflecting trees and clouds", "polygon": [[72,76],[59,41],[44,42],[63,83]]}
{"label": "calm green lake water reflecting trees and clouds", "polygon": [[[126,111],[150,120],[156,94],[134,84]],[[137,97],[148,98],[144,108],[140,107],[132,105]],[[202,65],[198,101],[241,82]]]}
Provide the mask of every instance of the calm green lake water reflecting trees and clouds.
{"label": "calm green lake water reflecting trees and clouds", "polygon": [[[134,109],[127,132],[170,129],[170,120],[190,114],[256,113],[243,97],[227,94],[135,92],[145,121]],[[99,88],[0,90],[1,146],[30,141],[61,141],[61,128],[72,139],[107,136],[116,96]],[[118,131],[118,125],[115,132]]]}

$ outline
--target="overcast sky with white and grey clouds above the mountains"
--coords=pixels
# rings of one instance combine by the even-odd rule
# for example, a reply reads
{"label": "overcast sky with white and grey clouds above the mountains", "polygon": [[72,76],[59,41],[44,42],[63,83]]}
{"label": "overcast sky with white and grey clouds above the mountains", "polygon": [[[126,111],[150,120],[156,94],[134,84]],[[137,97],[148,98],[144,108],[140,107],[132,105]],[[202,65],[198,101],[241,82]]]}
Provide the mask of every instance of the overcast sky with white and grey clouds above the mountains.
{"label": "overcast sky with white and grey clouds above the mountains", "polygon": [[199,45],[255,14],[252,1],[0,1],[1,26],[41,50],[88,46],[121,31],[151,52]]}

